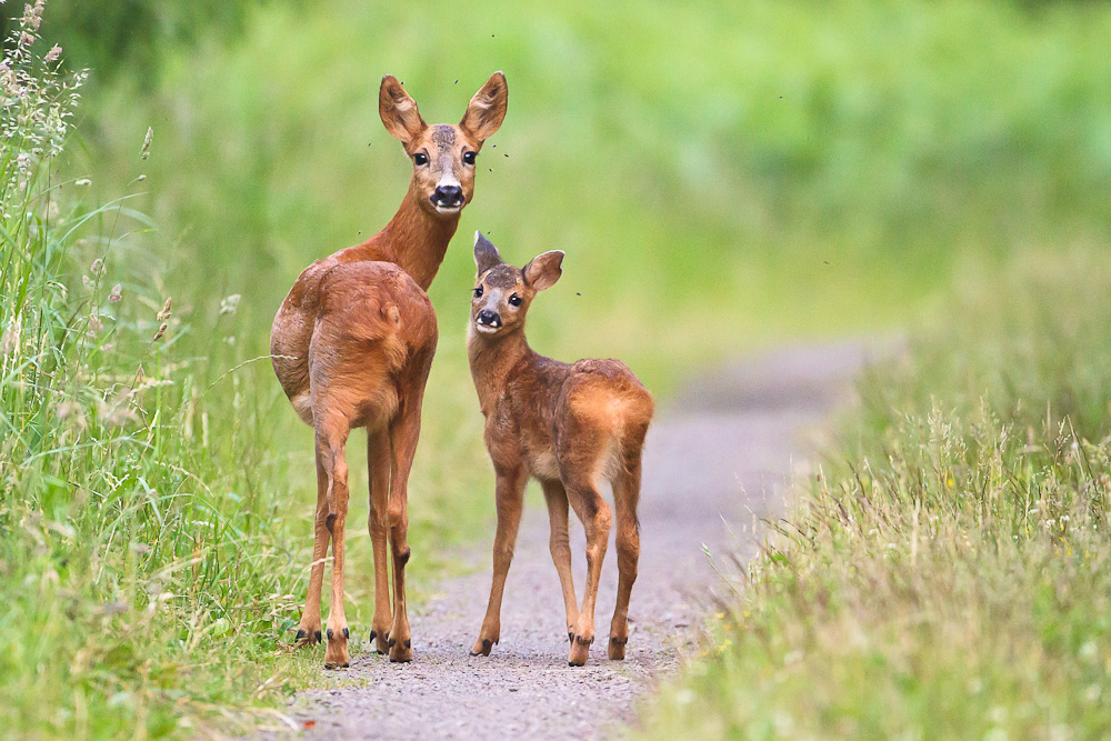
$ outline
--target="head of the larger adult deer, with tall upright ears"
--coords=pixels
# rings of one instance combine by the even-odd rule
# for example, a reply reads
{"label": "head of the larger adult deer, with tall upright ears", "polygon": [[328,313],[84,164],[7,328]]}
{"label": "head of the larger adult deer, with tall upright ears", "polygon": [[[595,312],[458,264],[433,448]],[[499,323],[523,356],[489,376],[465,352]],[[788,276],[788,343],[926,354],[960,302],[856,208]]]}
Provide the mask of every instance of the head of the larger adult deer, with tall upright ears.
{"label": "head of the larger adult deer, with tall upright ears", "polygon": [[471,98],[458,124],[429,126],[417,102],[392,74],[382,78],[378,112],[386,130],[400,141],[413,162],[410,190],[421,208],[440,216],[458,214],[474,193],[474,163],[482,142],[506,119],[509,87],[494,72]]}

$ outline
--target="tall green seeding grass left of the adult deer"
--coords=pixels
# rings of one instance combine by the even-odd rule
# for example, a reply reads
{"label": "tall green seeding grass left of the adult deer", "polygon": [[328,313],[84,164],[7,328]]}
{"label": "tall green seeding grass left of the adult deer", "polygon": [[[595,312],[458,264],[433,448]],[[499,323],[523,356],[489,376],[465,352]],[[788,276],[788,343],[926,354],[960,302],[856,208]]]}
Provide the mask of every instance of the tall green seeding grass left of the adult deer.
{"label": "tall green seeding grass left of the adult deer", "polygon": [[84,73],[31,53],[42,6],[0,67],[0,724],[203,730],[298,673],[276,670],[300,575],[276,394],[224,373],[234,299],[163,284],[133,196],[93,207],[86,181],[57,179]]}

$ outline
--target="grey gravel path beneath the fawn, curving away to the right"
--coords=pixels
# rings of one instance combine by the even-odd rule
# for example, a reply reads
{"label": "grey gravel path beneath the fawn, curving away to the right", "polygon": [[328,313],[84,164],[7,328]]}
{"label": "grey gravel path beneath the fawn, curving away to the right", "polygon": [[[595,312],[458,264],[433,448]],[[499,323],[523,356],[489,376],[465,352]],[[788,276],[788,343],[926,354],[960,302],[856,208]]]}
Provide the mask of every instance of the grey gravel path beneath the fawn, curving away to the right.
{"label": "grey gravel path beneath the fawn, curving away to the right", "polygon": [[[567,665],[547,510],[530,489],[506,585],[501,644],[489,658],[468,651],[486,611],[492,529],[463,554],[476,572],[446,581],[412,611],[412,663],[391,664],[356,643],[351,669],[337,672],[337,685],[300,693],[288,714],[299,725],[314,721],[306,738],[329,740],[611,734],[614,724],[633,719],[635,701],[655,680],[678,667],[709,598],[724,590],[703,544],[714,557],[735,552],[728,522],[742,551],[753,548],[751,527],[743,525],[782,509],[783,482],[811,449],[808,431],[851,399],[850,377],[867,359],[858,344],[781,350],[702,377],[661,405],[644,451],[642,554],[623,662],[605,657],[617,588],[611,542],[594,618],[599,640],[585,667]],[[571,548],[581,599],[584,545],[574,518]]]}

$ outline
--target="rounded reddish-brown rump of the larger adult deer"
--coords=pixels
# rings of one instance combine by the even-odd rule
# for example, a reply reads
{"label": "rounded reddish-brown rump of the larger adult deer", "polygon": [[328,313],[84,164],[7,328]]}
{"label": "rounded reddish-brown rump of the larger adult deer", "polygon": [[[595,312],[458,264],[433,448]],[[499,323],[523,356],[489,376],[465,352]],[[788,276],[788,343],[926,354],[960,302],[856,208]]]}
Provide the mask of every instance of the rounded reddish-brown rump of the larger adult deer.
{"label": "rounded reddish-brown rump of the larger adult deer", "polygon": [[351,428],[384,427],[397,414],[410,360],[436,349],[432,303],[392,262],[339,264],[316,288],[314,306],[293,309],[303,312],[297,323],[308,329],[311,322],[311,333],[299,332],[301,342],[293,343],[308,340],[307,347],[274,352],[296,356],[279,380],[310,425],[339,413]]}

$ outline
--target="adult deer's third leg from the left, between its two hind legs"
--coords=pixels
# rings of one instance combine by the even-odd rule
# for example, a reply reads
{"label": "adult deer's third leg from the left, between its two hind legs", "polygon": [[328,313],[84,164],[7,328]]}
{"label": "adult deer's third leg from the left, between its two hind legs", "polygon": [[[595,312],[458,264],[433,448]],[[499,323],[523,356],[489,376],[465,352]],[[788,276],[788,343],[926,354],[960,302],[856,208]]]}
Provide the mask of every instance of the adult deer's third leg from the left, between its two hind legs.
{"label": "adult deer's third leg from the left, between its two hind legs", "polygon": [[370,623],[370,640],[377,641],[379,653],[390,650],[390,567],[387,549],[390,532],[390,435],[384,430],[367,433],[367,470],[370,480],[370,517],[368,528],[374,550],[374,618]]}

